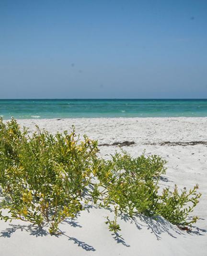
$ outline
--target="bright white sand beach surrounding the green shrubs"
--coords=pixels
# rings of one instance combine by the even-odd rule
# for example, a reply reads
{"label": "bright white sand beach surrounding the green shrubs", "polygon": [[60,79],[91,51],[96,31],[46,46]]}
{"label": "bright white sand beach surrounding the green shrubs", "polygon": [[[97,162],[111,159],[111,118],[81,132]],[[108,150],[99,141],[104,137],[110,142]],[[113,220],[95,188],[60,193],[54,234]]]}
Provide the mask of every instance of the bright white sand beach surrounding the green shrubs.
{"label": "bright white sand beach surrounding the green shrubs", "polygon": [[[161,186],[179,189],[199,185],[202,193],[194,211],[200,219],[191,232],[181,231],[163,218],[138,216],[133,222],[118,219],[121,238],[108,231],[103,209],[92,208],[60,225],[62,235],[50,236],[21,221],[0,220],[1,256],[206,256],[207,255],[207,118],[94,118],[19,120],[32,133],[35,124],[51,133],[71,130],[87,134],[99,144],[134,141],[123,146],[132,156],[157,154],[167,160]],[[161,143],[168,142],[166,145]],[[170,143],[179,145],[171,145]],[[194,143],[191,143],[194,142]],[[195,145],[194,145],[195,144]],[[109,158],[118,146],[100,146]]]}

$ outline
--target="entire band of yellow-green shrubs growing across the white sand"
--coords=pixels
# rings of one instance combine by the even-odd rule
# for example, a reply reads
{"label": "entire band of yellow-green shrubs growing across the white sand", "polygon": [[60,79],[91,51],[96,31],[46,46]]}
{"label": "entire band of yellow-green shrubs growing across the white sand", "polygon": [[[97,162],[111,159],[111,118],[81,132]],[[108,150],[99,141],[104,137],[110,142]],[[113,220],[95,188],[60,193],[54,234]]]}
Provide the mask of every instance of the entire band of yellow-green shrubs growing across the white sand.
{"label": "entire band of yellow-green shrubs growing across the white sand", "polygon": [[107,219],[112,232],[120,230],[117,217],[123,213],[161,215],[179,225],[196,221],[188,215],[201,196],[197,186],[181,194],[177,187],[159,193],[165,172],[159,156],[132,158],[123,152],[104,160],[97,152],[97,141],[87,136],[80,141],[74,128],[52,135],[37,127],[30,137],[14,119],[6,124],[0,119],[0,219],[48,223],[54,234],[61,221],[94,203],[114,209],[115,219]]}

